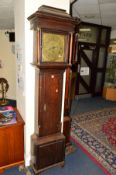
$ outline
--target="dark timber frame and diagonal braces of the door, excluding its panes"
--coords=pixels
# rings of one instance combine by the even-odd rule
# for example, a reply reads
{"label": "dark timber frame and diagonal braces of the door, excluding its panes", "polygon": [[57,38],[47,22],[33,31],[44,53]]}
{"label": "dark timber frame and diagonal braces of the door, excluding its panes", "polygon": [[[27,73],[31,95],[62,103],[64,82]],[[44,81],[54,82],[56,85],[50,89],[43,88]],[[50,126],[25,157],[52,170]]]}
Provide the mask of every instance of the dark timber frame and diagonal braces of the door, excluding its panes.
{"label": "dark timber frame and diagonal braces of the door, excluding its panes", "polygon": [[[87,55],[84,53],[84,51],[83,51],[84,49],[93,51],[91,61],[89,60]],[[84,79],[80,75],[81,56],[83,57],[87,66],[89,67],[89,69],[91,69],[89,85],[87,85],[87,83],[84,81]],[[95,96],[97,62],[98,62],[96,44],[79,42],[78,43],[78,56],[77,56],[77,58],[78,58],[78,60],[77,60],[76,95],[91,94],[91,96]],[[80,83],[87,90],[87,93],[79,93]]]}

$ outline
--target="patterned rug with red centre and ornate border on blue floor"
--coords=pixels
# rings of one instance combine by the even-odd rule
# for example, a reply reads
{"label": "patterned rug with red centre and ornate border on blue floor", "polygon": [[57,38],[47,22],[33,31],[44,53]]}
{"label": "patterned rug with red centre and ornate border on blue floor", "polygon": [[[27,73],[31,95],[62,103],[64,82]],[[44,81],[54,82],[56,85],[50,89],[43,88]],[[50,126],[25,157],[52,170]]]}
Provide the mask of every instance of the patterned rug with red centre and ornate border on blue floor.
{"label": "patterned rug with red centre and ornate border on blue floor", "polygon": [[116,173],[116,108],[74,116],[71,137],[106,172]]}

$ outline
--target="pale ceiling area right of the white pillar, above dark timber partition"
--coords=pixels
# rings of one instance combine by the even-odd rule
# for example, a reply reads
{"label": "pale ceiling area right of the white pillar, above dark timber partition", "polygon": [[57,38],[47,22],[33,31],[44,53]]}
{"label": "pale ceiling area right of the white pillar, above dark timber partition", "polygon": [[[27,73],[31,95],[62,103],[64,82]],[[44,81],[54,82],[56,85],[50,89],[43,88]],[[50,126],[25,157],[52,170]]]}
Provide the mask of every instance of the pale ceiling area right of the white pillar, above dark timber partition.
{"label": "pale ceiling area right of the white pillar, above dark timber partition", "polygon": [[72,14],[82,21],[111,26],[116,30],[116,0],[77,0]]}

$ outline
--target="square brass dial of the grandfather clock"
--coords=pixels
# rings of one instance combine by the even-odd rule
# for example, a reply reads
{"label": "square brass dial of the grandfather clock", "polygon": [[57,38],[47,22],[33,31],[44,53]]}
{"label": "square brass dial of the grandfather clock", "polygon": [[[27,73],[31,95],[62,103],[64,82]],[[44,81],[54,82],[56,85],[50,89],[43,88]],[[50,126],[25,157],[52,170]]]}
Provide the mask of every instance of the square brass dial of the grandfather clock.
{"label": "square brass dial of the grandfather clock", "polygon": [[42,33],[42,62],[65,61],[66,35]]}

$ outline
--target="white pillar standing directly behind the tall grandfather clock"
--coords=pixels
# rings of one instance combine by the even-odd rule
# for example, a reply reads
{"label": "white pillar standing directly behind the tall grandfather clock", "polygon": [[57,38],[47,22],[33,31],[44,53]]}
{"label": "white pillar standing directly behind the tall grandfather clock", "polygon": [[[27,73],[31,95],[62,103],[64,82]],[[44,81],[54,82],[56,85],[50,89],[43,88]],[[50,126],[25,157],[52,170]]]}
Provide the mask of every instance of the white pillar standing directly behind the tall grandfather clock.
{"label": "white pillar standing directly behind the tall grandfather clock", "polygon": [[[27,17],[37,11],[39,6],[49,5],[69,11],[69,0],[15,0],[15,31],[16,31],[16,51],[19,52],[23,61],[17,65],[17,74],[24,78],[24,87],[17,83],[18,109],[25,120],[25,163],[30,164],[30,136],[34,133],[34,90],[35,72],[30,65],[33,60],[33,31],[30,30],[30,23]],[[21,52],[21,54],[20,54]]]}

